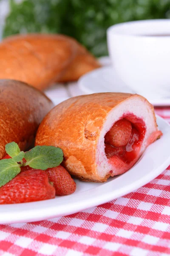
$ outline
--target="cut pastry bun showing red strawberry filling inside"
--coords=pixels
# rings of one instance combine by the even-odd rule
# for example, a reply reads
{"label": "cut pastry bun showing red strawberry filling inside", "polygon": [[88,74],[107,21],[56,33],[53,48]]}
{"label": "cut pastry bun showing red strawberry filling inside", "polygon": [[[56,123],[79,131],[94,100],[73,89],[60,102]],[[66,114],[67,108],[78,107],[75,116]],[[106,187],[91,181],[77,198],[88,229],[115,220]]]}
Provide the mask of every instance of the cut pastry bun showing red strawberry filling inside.
{"label": "cut pastry bun showing red strawberry filling inside", "polygon": [[161,137],[153,106],[130,93],[94,93],[54,107],[36,145],[62,148],[62,165],[80,180],[104,182],[129,170]]}

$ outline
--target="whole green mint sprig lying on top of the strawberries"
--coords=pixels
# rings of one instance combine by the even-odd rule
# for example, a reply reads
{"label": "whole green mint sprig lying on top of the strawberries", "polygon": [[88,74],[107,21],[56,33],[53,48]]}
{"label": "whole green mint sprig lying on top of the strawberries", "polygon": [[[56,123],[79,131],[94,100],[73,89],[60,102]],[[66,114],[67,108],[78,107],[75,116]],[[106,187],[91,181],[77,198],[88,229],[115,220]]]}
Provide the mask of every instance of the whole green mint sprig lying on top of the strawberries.
{"label": "whole green mint sprig lying on top of the strawberries", "polygon": [[11,142],[6,144],[6,153],[11,158],[0,160],[0,187],[19,174],[22,166],[46,170],[59,166],[63,160],[62,149],[54,146],[36,146],[25,153],[17,143]]}

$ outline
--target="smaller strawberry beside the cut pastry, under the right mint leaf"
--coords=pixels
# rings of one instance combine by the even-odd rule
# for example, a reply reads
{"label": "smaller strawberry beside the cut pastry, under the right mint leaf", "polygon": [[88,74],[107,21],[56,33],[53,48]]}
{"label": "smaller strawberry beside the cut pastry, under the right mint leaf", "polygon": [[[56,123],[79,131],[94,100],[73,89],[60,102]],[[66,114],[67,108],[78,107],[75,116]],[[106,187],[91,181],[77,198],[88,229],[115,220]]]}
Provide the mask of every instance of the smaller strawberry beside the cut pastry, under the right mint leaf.
{"label": "smaller strawberry beside the cut pastry, under the right mint leaf", "polygon": [[76,183],[70,174],[62,166],[48,168],[45,171],[48,178],[53,182],[56,195],[70,195],[76,190]]}

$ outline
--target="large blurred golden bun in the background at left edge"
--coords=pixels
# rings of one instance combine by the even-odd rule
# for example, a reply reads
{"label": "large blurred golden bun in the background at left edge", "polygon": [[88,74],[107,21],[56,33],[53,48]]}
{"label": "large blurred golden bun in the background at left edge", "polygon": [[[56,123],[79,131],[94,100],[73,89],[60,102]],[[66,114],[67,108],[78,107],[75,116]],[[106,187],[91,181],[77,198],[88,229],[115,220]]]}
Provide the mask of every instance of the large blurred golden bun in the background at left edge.
{"label": "large blurred golden bun in the background at left edge", "polygon": [[0,44],[0,79],[15,79],[43,90],[59,79],[77,47],[64,35],[14,35]]}

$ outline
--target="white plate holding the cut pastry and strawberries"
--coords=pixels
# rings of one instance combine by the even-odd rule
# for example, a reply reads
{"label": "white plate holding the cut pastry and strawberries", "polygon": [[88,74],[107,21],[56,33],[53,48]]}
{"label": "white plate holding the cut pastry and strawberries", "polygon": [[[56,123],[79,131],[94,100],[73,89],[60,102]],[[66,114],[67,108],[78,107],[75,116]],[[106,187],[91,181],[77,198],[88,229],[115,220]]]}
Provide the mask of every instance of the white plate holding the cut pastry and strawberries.
{"label": "white plate holding the cut pastry and strawberries", "polygon": [[33,203],[0,205],[0,224],[69,215],[116,199],[153,180],[170,164],[170,125],[159,116],[157,122],[164,135],[147,148],[128,172],[109,178],[106,183],[76,180],[77,190],[72,195]]}

